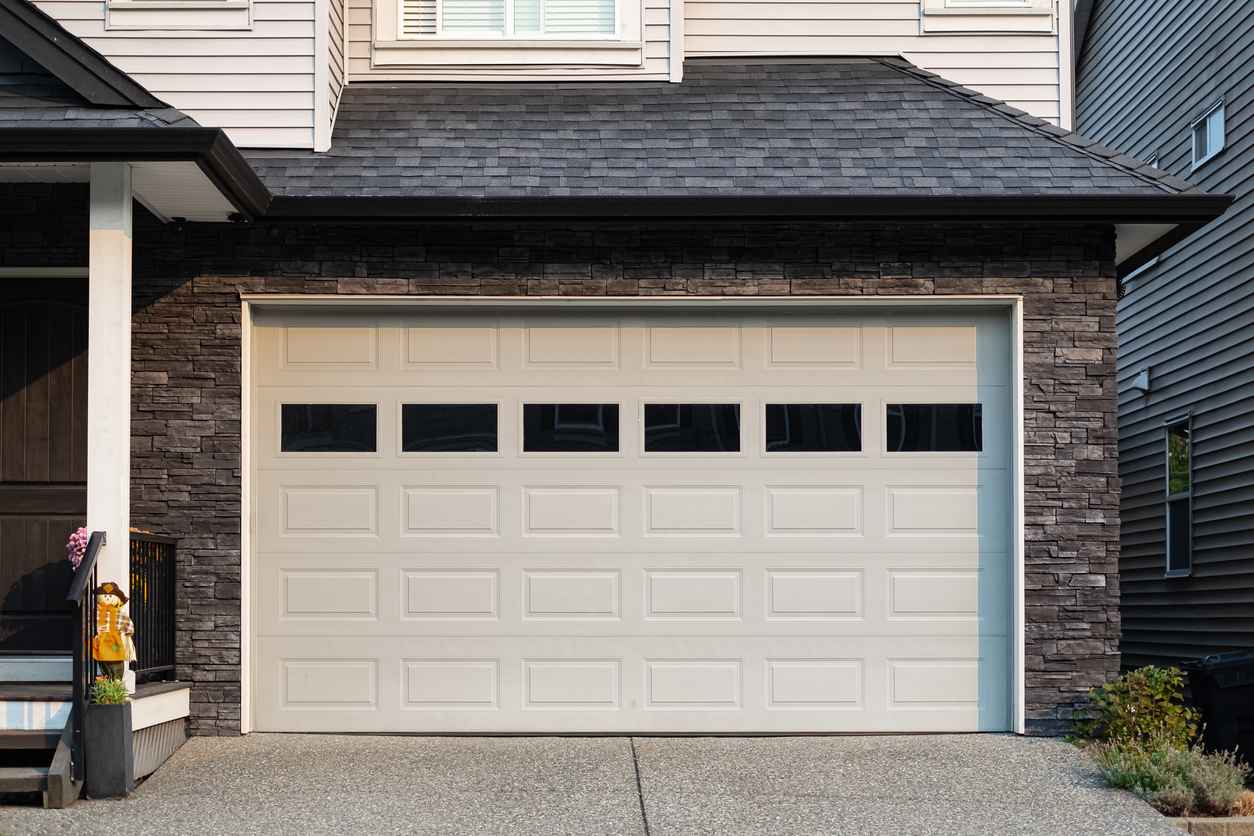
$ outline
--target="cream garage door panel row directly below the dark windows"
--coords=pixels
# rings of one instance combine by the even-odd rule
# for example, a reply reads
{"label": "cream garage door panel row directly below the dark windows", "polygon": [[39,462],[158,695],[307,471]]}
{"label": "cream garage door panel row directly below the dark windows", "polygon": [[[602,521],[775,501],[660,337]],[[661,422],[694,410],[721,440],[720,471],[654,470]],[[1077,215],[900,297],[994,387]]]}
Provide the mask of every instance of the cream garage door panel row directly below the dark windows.
{"label": "cream garage door panel row directly below the dark windows", "polygon": [[1007,550],[1001,469],[668,466],[611,483],[614,469],[262,470],[257,548],[321,554],[370,541],[380,551],[479,554],[581,551],[594,543],[608,554],[725,551],[731,540],[737,551],[875,553],[909,540],[919,551]]}

